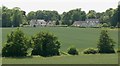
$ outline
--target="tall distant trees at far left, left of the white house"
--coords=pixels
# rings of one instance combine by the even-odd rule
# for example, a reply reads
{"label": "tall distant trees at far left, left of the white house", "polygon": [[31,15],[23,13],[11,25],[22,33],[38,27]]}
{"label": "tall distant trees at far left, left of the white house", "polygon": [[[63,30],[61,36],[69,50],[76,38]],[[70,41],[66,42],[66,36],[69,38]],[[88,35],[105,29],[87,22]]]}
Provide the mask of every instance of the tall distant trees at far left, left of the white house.
{"label": "tall distant trees at far left, left of the white house", "polygon": [[19,7],[13,9],[2,7],[2,27],[19,27],[20,24],[26,22],[25,11],[22,11]]}

